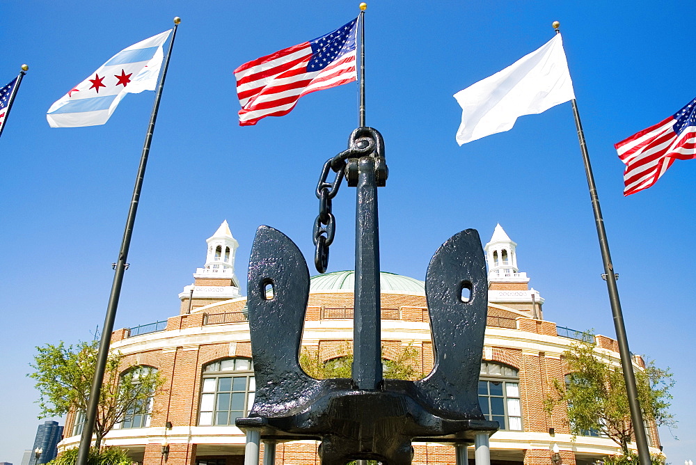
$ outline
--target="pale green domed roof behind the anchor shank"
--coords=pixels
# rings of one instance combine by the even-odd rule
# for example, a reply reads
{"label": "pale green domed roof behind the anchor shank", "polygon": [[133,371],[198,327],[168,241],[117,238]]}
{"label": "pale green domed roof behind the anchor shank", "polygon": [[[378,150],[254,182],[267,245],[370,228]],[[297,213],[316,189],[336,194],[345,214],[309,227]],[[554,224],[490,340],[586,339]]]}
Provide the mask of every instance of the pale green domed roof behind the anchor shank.
{"label": "pale green domed roof behind the anchor shank", "polygon": [[[381,292],[425,295],[425,281],[400,274],[380,273]],[[309,292],[354,292],[355,271],[333,271],[310,278]]]}

